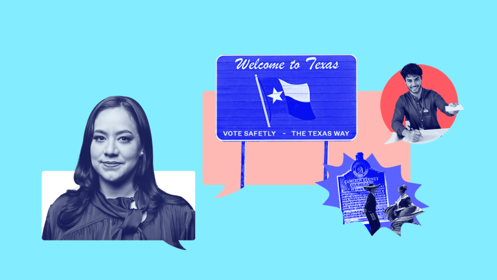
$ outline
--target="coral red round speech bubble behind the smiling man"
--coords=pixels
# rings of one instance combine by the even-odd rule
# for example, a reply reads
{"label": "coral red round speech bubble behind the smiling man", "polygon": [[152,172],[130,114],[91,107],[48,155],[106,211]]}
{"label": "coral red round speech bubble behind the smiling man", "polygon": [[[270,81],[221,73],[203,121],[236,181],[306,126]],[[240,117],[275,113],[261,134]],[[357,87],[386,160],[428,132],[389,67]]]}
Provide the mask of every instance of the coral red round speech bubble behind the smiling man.
{"label": "coral red round speech bubble behind the smiling man", "polygon": [[[442,71],[422,64],[419,64],[419,67],[423,70],[421,87],[437,92],[447,103],[457,103],[456,89],[454,88],[454,85],[452,85],[452,82],[450,82],[450,79],[445,76]],[[380,101],[381,116],[383,117],[385,125],[391,132],[394,132],[392,129],[392,117],[394,116],[395,103],[397,103],[399,96],[407,92],[409,92],[409,90],[399,70],[390,78],[387,85],[385,85]],[[449,117],[440,110],[437,110],[436,115],[441,128],[450,128],[456,119],[456,116]],[[403,124],[406,126],[405,119]]]}

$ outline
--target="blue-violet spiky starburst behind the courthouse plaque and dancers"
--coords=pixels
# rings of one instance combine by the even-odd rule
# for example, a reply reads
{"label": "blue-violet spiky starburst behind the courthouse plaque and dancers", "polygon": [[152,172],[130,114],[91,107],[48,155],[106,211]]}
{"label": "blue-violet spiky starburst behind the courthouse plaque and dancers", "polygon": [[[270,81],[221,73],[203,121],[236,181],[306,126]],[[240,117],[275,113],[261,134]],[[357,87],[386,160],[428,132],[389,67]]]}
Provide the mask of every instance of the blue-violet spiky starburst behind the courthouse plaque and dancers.
{"label": "blue-violet spiky starburst behind the courthouse plaque and dancers", "polygon": [[[387,180],[386,184],[387,197],[390,205],[394,204],[395,201],[397,201],[397,199],[400,197],[398,193],[398,187],[406,185],[408,187],[406,193],[409,194],[411,201],[414,203],[414,205],[419,208],[428,207],[428,205],[417,200],[416,197],[414,196],[416,190],[421,185],[404,181],[404,179],[402,179],[400,165],[389,168],[382,167],[380,163],[378,163],[378,161],[376,160],[373,154],[371,154],[371,156],[369,156],[366,160],[370,164],[372,169],[385,172],[385,178]],[[340,193],[338,188],[337,177],[342,176],[345,173],[349,172],[353,162],[354,160],[352,158],[350,158],[346,154],[343,154],[343,163],[341,166],[331,166],[326,164],[324,165],[326,170],[328,171],[329,177],[324,181],[316,182],[316,184],[326,188],[330,193],[330,196],[325,201],[325,203],[323,203],[323,205],[340,208]],[[414,222],[420,224],[416,217],[414,217]],[[381,227],[386,227],[389,229],[391,228],[391,225],[392,225],[391,221],[385,221],[380,224]],[[369,231],[370,229],[369,224],[365,224],[365,226]]]}

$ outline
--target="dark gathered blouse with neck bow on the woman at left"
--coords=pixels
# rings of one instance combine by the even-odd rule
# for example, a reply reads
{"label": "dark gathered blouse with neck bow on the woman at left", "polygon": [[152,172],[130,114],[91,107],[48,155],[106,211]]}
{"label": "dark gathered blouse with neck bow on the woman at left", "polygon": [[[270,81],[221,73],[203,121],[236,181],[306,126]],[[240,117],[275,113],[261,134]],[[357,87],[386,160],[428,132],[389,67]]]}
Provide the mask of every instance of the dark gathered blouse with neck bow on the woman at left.
{"label": "dark gathered blouse with neck bow on the woman at left", "polygon": [[136,201],[138,209],[130,209],[132,198],[105,199],[101,192],[95,197],[80,221],[63,229],[57,225],[57,217],[69,195],[59,196],[48,210],[43,240],[163,240],[184,249],[179,240],[195,239],[195,211],[188,204],[164,204],[141,222],[144,207],[140,209],[140,201]]}

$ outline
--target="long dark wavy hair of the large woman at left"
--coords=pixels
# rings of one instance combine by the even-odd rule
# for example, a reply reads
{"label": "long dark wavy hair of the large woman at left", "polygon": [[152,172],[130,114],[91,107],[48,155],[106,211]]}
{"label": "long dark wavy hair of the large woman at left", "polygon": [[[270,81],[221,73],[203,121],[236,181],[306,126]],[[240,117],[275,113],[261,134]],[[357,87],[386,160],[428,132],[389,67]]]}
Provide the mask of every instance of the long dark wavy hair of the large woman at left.
{"label": "long dark wavy hair of the large woman at left", "polygon": [[[149,196],[147,213],[155,214],[159,206],[164,204],[190,205],[181,196],[168,194],[159,187],[154,175],[154,157],[152,149],[152,133],[149,121],[142,106],[132,98],[125,96],[110,96],[100,101],[91,111],[84,128],[83,145],[80,159],[74,173],[74,182],[80,186],[77,190],[67,190],[69,199],[57,217],[57,224],[62,228],[70,228],[78,223],[95,192],[99,190],[99,177],[91,164],[90,146],[93,140],[95,119],[98,114],[110,108],[124,108],[132,117],[143,145],[143,156],[136,166],[133,186],[144,191]],[[191,206],[190,206],[191,208]]]}

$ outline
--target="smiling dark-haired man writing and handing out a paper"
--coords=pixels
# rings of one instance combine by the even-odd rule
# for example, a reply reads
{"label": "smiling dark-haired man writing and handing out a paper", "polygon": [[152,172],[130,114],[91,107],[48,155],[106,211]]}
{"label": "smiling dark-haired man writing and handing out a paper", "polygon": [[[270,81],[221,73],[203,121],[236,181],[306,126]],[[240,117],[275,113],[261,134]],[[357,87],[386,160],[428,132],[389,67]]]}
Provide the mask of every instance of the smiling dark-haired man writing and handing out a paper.
{"label": "smiling dark-haired man writing and handing out a paper", "polygon": [[[409,92],[402,94],[395,104],[394,116],[392,118],[392,129],[399,137],[407,137],[411,142],[419,141],[424,129],[439,129],[436,109],[448,116],[454,116],[459,111],[445,111],[445,106],[455,107],[457,103],[447,104],[440,94],[423,89],[421,82],[423,80],[423,71],[419,66],[410,63],[401,71],[402,78],[406,82]],[[402,123],[410,123],[410,129],[407,129]]]}

